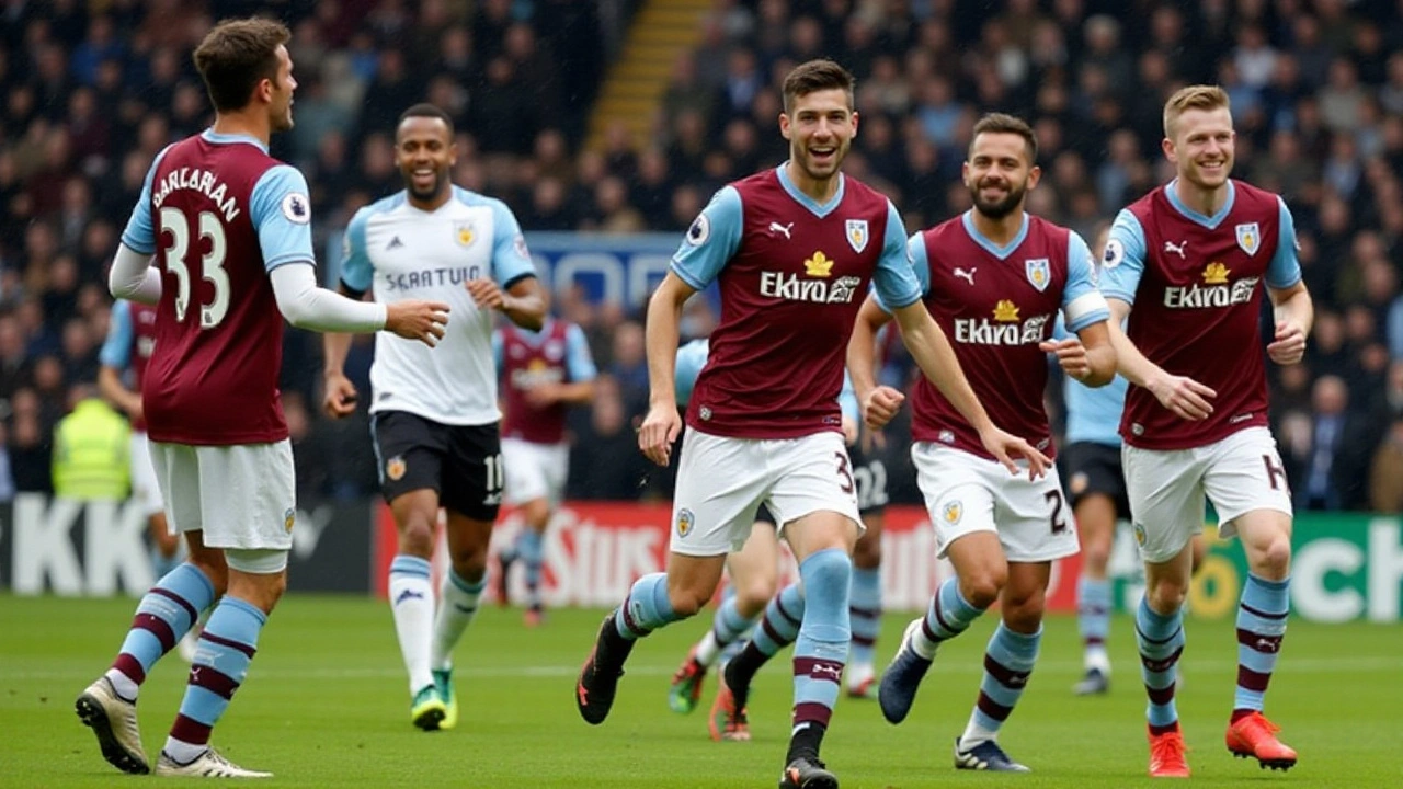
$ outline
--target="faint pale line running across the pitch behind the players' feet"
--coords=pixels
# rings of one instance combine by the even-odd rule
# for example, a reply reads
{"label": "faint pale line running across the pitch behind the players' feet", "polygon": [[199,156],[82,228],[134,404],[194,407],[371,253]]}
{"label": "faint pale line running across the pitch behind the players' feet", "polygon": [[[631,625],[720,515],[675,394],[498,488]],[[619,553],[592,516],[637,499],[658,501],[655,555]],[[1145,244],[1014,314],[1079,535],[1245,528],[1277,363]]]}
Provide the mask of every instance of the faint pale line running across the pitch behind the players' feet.
{"label": "faint pale line running across the pitch behind the players' feet", "polygon": [[[780,661],[788,663],[787,658]],[[777,661],[779,663],[779,661]],[[1187,660],[1183,663],[1186,671],[1190,675],[1194,674],[1209,674],[1216,671],[1232,671],[1236,668],[1236,661],[1229,660]],[[955,664],[939,664],[936,667],[943,672],[957,672],[957,674],[982,674],[984,667],[972,661],[960,661]],[[1277,667],[1277,674],[1369,674],[1379,671],[1397,671],[1403,670],[1403,657],[1397,656],[1372,656],[1372,657],[1341,657],[1341,658],[1298,658],[1282,660]],[[630,665],[629,674],[636,677],[671,677],[675,667],[666,665]],[[1035,668],[1035,674],[1045,675],[1080,675],[1083,667],[1076,661],[1048,661],[1040,663]],[[535,679],[550,679],[550,678],[565,678],[574,677],[579,672],[579,665],[471,665],[460,664],[459,677],[460,678],[484,678],[484,679],[499,679],[499,678],[535,678]],[[361,667],[361,668],[269,668],[267,671],[260,671],[258,664],[253,665],[253,679],[255,681],[344,681],[344,679],[389,679],[404,675],[404,670],[397,665],[386,667]],[[80,681],[91,677],[91,671],[0,671],[0,685],[8,681],[43,681],[43,679],[62,679],[62,681]]]}

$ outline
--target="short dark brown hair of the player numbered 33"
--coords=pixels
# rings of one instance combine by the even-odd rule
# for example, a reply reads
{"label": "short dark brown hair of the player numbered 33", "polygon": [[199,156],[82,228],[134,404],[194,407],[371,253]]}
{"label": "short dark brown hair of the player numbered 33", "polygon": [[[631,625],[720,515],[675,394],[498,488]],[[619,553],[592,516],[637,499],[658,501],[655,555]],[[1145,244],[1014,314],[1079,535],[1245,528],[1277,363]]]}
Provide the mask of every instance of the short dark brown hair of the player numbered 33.
{"label": "short dark brown hair of the player numbered 33", "polygon": [[290,38],[282,22],[257,17],[215,25],[194,56],[215,110],[243,110],[260,81],[278,79],[278,48]]}

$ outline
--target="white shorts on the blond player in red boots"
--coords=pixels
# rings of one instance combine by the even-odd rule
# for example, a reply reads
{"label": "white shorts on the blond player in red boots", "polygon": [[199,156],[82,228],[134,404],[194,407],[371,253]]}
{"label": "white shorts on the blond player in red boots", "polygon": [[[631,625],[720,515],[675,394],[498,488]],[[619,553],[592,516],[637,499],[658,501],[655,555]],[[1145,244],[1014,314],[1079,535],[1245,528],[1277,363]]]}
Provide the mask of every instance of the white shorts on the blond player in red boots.
{"label": "white shorts on the blond player in red boots", "polygon": [[1218,535],[1237,533],[1235,518],[1253,510],[1292,514],[1277,439],[1249,427],[1193,449],[1121,448],[1135,542],[1145,562],[1167,562],[1204,531],[1204,497],[1218,511]]}

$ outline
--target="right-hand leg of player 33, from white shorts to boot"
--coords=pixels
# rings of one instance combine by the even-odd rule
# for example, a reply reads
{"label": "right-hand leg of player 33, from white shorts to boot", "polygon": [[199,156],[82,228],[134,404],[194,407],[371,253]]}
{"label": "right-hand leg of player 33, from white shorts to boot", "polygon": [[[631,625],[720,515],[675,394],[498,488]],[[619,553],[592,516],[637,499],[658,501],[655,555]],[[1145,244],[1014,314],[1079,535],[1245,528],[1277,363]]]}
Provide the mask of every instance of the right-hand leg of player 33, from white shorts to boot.
{"label": "right-hand leg of player 33, from white shorts to boot", "polygon": [[210,734],[247,678],[258,636],[286,588],[296,526],[292,444],[201,446],[203,539],[224,550],[229,592],[199,637],[180,715],[156,765],[157,775],[267,778],[209,747]]}

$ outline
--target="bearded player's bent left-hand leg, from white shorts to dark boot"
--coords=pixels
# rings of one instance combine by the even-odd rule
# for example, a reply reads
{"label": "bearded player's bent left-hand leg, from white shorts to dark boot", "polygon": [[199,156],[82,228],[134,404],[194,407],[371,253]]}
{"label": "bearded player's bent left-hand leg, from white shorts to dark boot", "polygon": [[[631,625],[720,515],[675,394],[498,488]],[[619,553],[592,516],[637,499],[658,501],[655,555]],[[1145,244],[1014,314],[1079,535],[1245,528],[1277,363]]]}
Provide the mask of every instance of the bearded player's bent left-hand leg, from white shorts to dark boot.
{"label": "bearded player's bent left-hand leg, from white shorts to dark boot", "polygon": [[975,472],[979,463],[995,463],[930,442],[912,446],[911,458],[936,532],[937,556],[950,557],[955,574],[936,590],[925,616],[906,625],[901,647],[882,674],[877,701],[891,723],[906,719],[940,644],[964,633],[1007,583],[995,531],[993,493]]}

